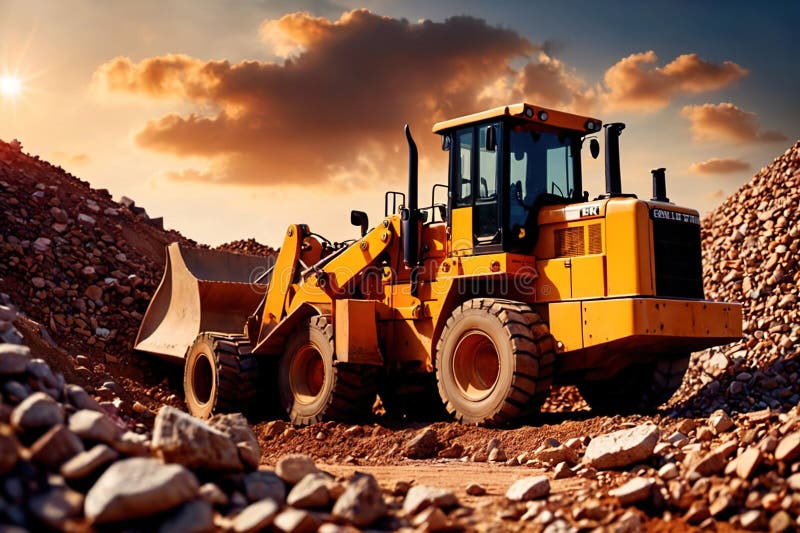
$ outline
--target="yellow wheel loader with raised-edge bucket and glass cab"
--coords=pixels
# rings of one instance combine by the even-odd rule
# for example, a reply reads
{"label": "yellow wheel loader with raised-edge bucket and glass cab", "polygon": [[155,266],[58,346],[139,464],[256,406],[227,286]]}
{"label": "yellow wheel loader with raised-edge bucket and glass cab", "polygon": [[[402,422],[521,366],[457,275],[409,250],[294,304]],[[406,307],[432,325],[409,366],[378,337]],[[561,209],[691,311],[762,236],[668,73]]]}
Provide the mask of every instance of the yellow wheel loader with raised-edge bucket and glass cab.
{"label": "yellow wheel loader with raised-edge bucket and glass cab", "polygon": [[[741,306],[705,300],[700,219],[669,202],[664,169],[651,200],[622,192],[624,127],[527,103],[438,123],[449,173],[429,206],[406,127],[407,194],[387,192],[372,228],[353,211],[358,238],[292,224],[274,258],[170,245],[135,348],[184,360],[200,417],[279,402],[298,425],[359,421],[380,394],[501,425],[554,383],[596,410],[653,409],[692,351],[741,337]],[[602,129],[590,200],[581,155]]]}

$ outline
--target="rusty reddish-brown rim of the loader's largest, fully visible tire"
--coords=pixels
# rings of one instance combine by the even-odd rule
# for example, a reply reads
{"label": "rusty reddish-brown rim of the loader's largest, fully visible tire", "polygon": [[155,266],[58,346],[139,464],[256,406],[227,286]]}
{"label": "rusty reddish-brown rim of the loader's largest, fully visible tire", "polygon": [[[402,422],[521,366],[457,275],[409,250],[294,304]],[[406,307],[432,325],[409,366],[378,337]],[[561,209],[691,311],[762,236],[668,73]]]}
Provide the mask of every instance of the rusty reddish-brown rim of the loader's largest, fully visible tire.
{"label": "rusty reddish-brown rim of the loader's largest, fully visible tire", "polygon": [[492,339],[482,331],[468,331],[453,354],[453,377],[461,394],[477,402],[488,397],[500,375],[500,357]]}

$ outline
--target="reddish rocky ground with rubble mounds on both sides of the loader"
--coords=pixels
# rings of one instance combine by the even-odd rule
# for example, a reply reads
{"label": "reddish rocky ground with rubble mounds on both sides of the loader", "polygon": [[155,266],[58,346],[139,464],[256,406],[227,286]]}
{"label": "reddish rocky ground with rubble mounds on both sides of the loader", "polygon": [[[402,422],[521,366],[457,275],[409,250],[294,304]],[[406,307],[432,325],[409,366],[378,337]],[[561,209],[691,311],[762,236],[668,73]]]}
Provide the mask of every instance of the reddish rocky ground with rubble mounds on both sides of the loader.
{"label": "reddish rocky ground with rubble mounds on both sides of the loader", "polygon": [[184,416],[180,370],[130,350],[163,245],[194,243],[0,143],[0,524],[797,530],[798,204],[800,143],[704,218],[707,297],[744,304],[745,336],[694,354],[655,415],[594,416],[565,387],[513,429],[378,415],[251,429]]}

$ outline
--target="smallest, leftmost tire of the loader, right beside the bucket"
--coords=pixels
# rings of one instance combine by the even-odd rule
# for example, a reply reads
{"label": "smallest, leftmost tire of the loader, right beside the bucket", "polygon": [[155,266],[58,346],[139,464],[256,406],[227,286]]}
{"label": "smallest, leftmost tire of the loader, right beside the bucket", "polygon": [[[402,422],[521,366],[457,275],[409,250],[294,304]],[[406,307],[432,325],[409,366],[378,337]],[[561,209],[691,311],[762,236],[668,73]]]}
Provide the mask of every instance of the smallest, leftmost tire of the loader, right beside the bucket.
{"label": "smallest, leftmost tire of the loader, right beside the bucket", "polygon": [[258,361],[243,335],[201,333],[186,351],[183,390],[189,413],[248,412],[256,396]]}

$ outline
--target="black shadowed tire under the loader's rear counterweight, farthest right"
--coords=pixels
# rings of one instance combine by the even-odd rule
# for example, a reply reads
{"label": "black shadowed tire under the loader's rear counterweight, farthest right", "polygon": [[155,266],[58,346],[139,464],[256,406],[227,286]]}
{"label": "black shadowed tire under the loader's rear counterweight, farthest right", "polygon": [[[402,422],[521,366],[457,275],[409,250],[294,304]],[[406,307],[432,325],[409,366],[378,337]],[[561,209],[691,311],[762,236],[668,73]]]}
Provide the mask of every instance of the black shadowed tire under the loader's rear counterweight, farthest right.
{"label": "black shadowed tire under the loader's rear counterweight, farthest right", "polygon": [[689,356],[673,354],[631,365],[609,379],[579,383],[578,390],[592,410],[600,413],[655,411],[680,388]]}

